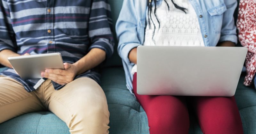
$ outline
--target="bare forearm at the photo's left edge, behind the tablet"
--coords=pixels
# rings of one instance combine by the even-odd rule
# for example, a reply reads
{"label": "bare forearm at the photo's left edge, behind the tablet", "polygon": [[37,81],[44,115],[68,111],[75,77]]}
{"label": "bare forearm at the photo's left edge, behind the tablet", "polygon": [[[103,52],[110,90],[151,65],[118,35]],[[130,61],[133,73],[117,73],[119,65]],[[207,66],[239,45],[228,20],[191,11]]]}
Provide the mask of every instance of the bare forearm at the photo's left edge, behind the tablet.
{"label": "bare forearm at the photo's left edge, behind the tablet", "polygon": [[0,52],[0,63],[6,67],[12,68],[11,63],[8,61],[8,57],[20,56],[9,49],[4,49]]}

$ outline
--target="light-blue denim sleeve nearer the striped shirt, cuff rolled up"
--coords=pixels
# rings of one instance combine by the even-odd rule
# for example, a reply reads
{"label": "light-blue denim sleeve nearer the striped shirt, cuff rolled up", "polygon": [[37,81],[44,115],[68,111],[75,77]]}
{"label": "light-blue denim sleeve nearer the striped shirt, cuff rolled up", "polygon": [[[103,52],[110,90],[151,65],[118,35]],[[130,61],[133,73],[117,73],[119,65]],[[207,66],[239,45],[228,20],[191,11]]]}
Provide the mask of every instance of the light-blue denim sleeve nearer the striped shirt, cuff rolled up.
{"label": "light-blue denim sleeve nearer the striped shirt, cuff rolled up", "polygon": [[140,46],[142,43],[138,37],[138,20],[135,10],[134,0],[124,0],[116,22],[116,34],[119,40],[117,51],[126,64],[131,64],[128,54],[132,48]]}

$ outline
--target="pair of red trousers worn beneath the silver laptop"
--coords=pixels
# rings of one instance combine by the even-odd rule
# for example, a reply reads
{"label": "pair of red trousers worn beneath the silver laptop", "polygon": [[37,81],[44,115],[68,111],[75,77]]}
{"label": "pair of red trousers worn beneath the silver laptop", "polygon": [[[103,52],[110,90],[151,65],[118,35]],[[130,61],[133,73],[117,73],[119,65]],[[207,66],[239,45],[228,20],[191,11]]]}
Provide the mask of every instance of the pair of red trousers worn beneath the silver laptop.
{"label": "pair of red trousers worn beneath the silver laptop", "polygon": [[[133,92],[148,116],[150,134],[188,134],[189,99],[205,134],[243,134],[235,97],[185,97],[137,94],[137,73]],[[189,103],[190,104],[190,103]]]}

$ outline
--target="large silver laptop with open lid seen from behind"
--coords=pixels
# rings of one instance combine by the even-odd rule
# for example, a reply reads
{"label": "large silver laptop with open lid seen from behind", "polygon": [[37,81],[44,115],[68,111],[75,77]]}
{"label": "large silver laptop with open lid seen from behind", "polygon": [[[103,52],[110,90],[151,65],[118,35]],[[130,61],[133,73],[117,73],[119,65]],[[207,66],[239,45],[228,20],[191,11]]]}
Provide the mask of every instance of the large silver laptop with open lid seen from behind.
{"label": "large silver laptop with open lid seen from behind", "polygon": [[140,46],[137,93],[233,96],[246,54],[244,47]]}

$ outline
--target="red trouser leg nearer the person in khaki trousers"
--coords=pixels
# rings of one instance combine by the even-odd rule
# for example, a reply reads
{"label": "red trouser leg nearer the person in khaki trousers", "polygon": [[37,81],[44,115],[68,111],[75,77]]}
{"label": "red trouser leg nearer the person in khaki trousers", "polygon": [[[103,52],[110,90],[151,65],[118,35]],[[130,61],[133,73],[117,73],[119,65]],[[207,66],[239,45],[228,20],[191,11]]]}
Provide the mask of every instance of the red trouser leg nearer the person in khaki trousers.
{"label": "red trouser leg nearer the person in khaki trousers", "polygon": [[133,92],[148,116],[150,134],[188,134],[184,97],[137,94],[137,73],[133,76]]}

